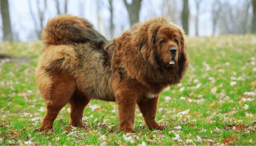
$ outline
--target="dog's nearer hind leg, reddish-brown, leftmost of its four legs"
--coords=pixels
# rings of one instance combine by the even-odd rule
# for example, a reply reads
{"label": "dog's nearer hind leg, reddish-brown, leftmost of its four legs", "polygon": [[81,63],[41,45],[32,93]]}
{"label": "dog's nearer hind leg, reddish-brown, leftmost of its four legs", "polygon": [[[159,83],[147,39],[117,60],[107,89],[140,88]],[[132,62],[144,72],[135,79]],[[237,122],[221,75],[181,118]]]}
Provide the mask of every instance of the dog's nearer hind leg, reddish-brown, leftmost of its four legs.
{"label": "dog's nearer hind leg, reddish-brown, leftmost of its four legs", "polygon": [[[50,88],[39,87],[44,99],[46,100],[46,115],[39,127],[39,130],[48,131],[52,129],[53,122],[57,118],[61,108],[63,108],[76,91],[76,80],[64,70],[54,69],[50,71]],[[40,78],[38,78],[40,79]],[[44,89],[44,91],[42,91]]]}

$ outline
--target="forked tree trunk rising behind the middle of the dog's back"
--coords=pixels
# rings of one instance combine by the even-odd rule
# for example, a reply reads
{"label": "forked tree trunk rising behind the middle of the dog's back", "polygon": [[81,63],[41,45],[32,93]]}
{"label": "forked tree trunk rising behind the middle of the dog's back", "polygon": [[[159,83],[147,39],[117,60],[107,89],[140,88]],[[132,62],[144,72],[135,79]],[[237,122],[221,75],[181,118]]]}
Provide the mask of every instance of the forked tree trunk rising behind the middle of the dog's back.
{"label": "forked tree trunk rising behind the middle of the dog's back", "polygon": [[139,22],[139,13],[140,13],[140,6],[142,0],[132,0],[131,4],[127,3],[127,0],[123,0],[125,7],[127,8],[129,14],[129,20],[131,26],[137,22]]}

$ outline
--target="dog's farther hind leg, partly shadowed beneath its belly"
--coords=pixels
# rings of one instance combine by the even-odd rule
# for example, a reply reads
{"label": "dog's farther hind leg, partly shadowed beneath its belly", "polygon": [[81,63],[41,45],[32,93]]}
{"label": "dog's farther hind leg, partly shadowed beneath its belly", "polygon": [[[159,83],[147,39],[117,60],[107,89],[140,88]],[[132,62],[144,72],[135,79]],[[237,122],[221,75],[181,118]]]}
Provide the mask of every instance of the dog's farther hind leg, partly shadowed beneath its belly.
{"label": "dog's farther hind leg, partly shadowed beneath its belly", "polygon": [[89,103],[89,99],[82,94],[74,94],[70,99],[70,121],[69,124],[75,127],[83,127],[83,112],[86,105]]}

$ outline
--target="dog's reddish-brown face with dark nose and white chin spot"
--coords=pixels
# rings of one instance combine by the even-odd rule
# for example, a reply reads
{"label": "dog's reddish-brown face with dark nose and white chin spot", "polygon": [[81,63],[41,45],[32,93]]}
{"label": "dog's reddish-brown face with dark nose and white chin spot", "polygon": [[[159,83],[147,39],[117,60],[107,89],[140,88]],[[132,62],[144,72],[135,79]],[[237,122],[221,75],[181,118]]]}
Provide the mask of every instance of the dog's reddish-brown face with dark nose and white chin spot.
{"label": "dog's reddish-brown face with dark nose and white chin spot", "polygon": [[172,69],[177,65],[178,55],[181,50],[180,31],[171,25],[165,25],[158,29],[155,35],[155,46],[161,66]]}

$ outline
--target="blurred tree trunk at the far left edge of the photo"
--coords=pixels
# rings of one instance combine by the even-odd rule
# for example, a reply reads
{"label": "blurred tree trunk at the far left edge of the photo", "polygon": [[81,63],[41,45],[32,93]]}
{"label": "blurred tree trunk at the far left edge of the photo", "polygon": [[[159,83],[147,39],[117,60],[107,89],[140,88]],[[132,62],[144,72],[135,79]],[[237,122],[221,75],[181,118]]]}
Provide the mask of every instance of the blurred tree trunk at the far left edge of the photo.
{"label": "blurred tree trunk at the far left edge of the photo", "polygon": [[3,22],[3,31],[4,31],[4,41],[12,41],[12,29],[11,29],[11,21],[9,14],[9,4],[8,0],[1,0],[1,15]]}

